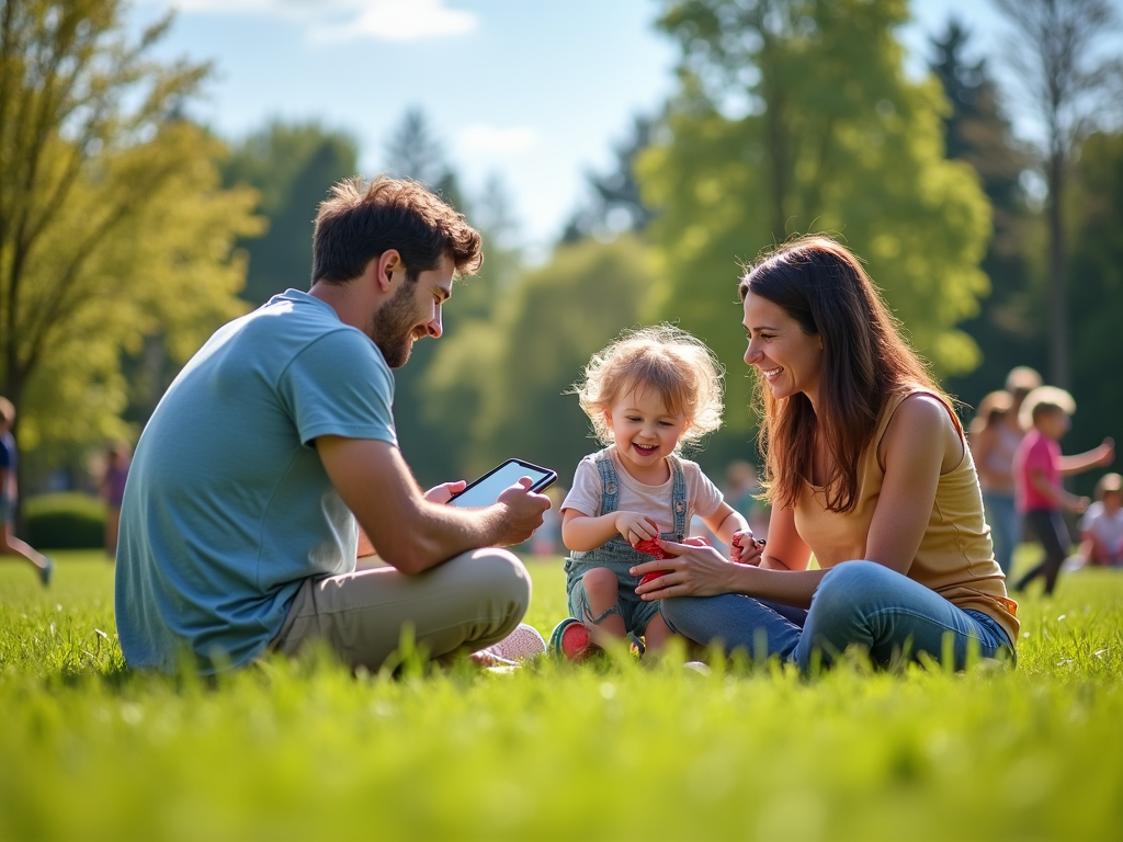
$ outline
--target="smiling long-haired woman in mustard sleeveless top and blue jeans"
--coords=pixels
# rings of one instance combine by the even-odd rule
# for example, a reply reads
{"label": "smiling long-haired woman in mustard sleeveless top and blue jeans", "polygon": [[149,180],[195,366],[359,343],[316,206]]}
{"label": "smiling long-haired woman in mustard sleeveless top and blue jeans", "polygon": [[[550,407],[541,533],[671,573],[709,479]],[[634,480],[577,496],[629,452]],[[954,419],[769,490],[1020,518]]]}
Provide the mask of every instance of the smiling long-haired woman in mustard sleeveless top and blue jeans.
{"label": "smiling long-haired woman in mustard sleeveless top and blue jeans", "polygon": [[[857,258],[806,237],[752,267],[740,295],[763,412],[767,547],[738,565],[660,542],[677,558],[637,566],[669,570],[637,593],[664,600],[668,625],[691,640],[804,670],[851,644],[879,665],[939,659],[946,640],[957,667],[975,646],[1012,658],[1017,606],[962,427]],[[809,569],[812,553],[821,569]]]}

